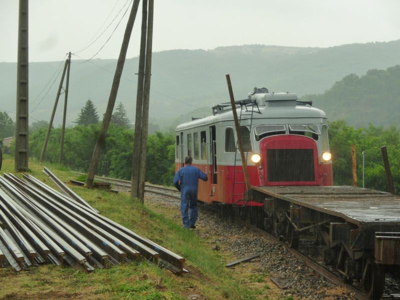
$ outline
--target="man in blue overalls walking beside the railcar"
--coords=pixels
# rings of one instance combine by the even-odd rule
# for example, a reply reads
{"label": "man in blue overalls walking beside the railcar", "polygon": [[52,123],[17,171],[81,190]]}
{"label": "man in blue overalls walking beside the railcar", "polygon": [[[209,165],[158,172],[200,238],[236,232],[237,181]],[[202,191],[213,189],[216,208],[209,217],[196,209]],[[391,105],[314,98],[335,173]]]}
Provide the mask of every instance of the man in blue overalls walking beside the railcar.
{"label": "man in blue overalls walking beside the railcar", "polygon": [[[196,227],[198,179],[208,180],[207,174],[191,165],[191,162],[191,156],[186,156],[184,158],[185,166],[180,168],[173,177],[173,185],[180,191],[180,212],[182,213],[183,227],[186,229]],[[190,217],[188,215],[189,208]]]}

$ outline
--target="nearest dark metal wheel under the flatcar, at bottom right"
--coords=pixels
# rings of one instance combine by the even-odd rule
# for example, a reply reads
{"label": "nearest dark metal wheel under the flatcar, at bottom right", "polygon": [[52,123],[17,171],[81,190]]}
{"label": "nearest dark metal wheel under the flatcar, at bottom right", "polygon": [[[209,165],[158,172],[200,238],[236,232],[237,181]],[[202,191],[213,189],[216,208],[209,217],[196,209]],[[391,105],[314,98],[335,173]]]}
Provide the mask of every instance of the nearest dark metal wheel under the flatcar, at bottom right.
{"label": "nearest dark metal wheel under the flatcar, at bottom right", "polygon": [[373,262],[365,263],[362,288],[368,298],[380,299],[384,288],[384,268],[382,265]]}

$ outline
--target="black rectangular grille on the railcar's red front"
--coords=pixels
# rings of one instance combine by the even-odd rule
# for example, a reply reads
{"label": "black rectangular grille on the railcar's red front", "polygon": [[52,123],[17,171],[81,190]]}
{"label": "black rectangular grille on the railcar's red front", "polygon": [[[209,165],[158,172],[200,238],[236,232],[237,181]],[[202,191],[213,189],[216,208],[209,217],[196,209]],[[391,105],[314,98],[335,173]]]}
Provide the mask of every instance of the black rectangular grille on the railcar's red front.
{"label": "black rectangular grille on the railcar's red front", "polygon": [[312,149],[267,149],[268,181],[314,181]]}

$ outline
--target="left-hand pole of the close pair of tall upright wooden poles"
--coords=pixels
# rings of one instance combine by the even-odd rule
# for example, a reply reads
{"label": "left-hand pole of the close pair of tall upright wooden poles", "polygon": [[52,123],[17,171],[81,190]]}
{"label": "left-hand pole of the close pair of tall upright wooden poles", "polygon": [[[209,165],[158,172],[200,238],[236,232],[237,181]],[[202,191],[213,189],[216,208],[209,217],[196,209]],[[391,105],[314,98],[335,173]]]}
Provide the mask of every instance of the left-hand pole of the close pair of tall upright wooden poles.
{"label": "left-hand pole of the close pair of tall upright wooden poles", "polygon": [[[146,35],[147,35],[147,0],[142,1],[141,15],[141,35],[140,35],[140,51],[139,51],[139,69],[137,72],[137,91],[136,91],[136,113],[134,121],[134,139],[133,139],[133,155],[132,155],[132,176],[130,197],[132,199],[139,198],[139,177],[140,172],[140,150],[142,135],[142,117],[143,117],[143,89],[144,89],[144,68],[146,56]],[[139,199],[140,200],[140,199]]]}

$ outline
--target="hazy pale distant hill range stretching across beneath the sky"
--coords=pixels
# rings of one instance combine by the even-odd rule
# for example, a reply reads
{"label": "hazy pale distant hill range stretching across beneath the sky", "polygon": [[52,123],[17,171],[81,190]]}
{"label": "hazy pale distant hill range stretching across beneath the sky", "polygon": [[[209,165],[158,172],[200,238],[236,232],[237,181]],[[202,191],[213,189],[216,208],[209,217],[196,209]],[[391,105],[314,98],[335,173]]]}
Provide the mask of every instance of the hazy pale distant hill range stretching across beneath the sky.
{"label": "hazy pale distant hill range stretching across beneath the sky", "polygon": [[[296,92],[300,96],[318,94],[350,73],[361,76],[369,69],[386,69],[400,64],[398,53],[400,40],[328,48],[241,45],[211,50],[155,52],[151,71],[150,122],[163,127],[171,119],[179,121],[181,115],[185,118],[183,121],[190,114],[210,114],[209,107],[228,101],[225,74],[230,74],[236,99],[245,98],[254,86],[264,86],[270,91]],[[67,111],[69,124],[76,119],[88,98],[96,105],[99,115],[104,113],[116,65],[116,59],[81,62],[72,56]],[[34,119],[49,120],[59,84],[59,78],[50,78],[61,63],[29,63],[30,122]],[[137,64],[138,57],[126,60],[117,96],[117,102],[124,104],[131,121],[135,110]],[[15,111],[15,82],[16,64],[0,62],[0,109]],[[62,103],[63,96],[54,120],[56,125],[61,122]],[[191,113],[193,109],[197,112]],[[376,109],[379,109],[378,104]],[[10,116],[14,118],[14,115]]]}

